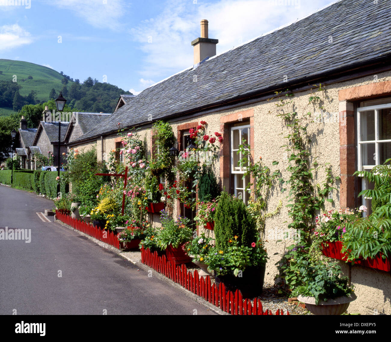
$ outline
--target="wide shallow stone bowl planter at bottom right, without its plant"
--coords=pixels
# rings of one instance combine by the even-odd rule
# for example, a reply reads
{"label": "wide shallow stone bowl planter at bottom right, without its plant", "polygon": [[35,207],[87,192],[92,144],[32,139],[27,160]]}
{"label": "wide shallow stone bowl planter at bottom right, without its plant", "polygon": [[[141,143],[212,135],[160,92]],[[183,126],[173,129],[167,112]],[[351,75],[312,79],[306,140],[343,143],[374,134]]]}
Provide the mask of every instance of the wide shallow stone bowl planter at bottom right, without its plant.
{"label": "wide shallow stone bowl planter at bottom right, without its plant", "polygon": [[342,315],[349,307],[350,302],[357,299],[357,296],[352,292],[349,297],[337,297],[327,299],[327,301],[319,301],[315,305],[315,297],[298,296],[297,299],[303,303],[307,309],[314,315]]}

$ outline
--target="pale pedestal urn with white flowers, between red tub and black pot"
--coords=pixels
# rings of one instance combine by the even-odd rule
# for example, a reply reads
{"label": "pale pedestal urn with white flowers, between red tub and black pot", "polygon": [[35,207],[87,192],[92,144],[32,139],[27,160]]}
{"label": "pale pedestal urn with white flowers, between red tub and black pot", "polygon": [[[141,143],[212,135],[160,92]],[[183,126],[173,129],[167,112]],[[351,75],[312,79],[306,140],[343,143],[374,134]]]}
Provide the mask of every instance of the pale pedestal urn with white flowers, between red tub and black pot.
{"label": "pale pedestal urn with white flowers, between red tub and black pot", "polygon": [[183,251],[193,258],[193,264],[201,268],[198,273],[199,276],[214,278],[214,275],[208,271],[208,265],[206,264],[206,256],[212,247],[212,240],[211,237],[206,237],[202,233],[182,246]]}

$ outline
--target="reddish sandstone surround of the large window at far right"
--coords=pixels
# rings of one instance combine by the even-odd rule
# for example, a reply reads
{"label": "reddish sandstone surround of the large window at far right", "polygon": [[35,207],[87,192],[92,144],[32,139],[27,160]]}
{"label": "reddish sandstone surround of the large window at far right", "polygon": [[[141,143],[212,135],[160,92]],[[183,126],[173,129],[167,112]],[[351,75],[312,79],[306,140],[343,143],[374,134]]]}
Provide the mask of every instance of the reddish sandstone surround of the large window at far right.
{"label": "reddish sandstone surround of the large window at far right", "polygon": [[[365,84],[362,86],[351,87],[347,89],[341,89],[338,92],[339,96],[339,115],[340,118],[344,118],[339,121],[339,164],[341,171],[341,185],[340,185],[340,206],[341,208],[354,208],[357,206],[357,187],[355,185],[355,177],[353,173],[362,168],[364,165],[371,168],[370,165],[362,164],[363,154],[362,146],[360,150],[358,149],[359,145],[368,143],[367,141],[362,140],[367,139],[366,137],[358,137],[357,129],[359,128],[357,123],[359,121],[358,117],[362,109],[355,110],[355,104],[362,102],[364,100],[381,98],[391,95],[391,81],[384,82],[373,82],[370,84]],[[358,108],[360,108],[358,106]],[[361,107],[362,108],[362,107]],[[363,110],[365,111],[365,110]],[[367,116],[368,119],[368,116]],[[370,121],[371,119],[369,119]],[[366,121],[368,125],[368,121]],[[374,124],[373,124],[374,125]],[[363,131],[361,130],[361,133]],[[359,143],[361,142],[361,143]],[[375,141],[376,144],[376,141]],[[368,150],[364,151],[367,153]],[[360,151],[360,156],[358,153]],[[376,153],[376,149],[373,151]],[[374,162],[380,161],[380,155],[374,155]],[[366,163],[369,160],[367,158]],[[360,165],[359,165],[360,163]],[[373,165],[373,164],[372,164]],[[364,184],[365,186],[365,184]],[[364,199],[365,201],[365,199]]]}

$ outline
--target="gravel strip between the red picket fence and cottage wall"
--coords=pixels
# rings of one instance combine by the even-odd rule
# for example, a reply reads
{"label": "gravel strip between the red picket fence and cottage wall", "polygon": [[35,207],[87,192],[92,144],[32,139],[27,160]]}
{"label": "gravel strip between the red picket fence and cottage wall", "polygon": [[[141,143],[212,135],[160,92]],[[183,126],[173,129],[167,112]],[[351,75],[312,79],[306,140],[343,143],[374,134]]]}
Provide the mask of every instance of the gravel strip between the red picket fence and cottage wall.
{"label": "gravel strip between the red picket fence and cottage wall", "polygon": [[[129,250],[121,252],[127,258],[133,260],[134,262],[141,262],[141,252],[139,250]],[[195,270],[200,270],[199,267],[189,264],[187,265],[187,270],[194,274]],[[212,284],[215,282],[214,279],[211,279]],[[282,309],[284,313],[289,311],[291,315],[312,315],[307,309],[301,308],[297,303],[288,303],[288,298],[278,294],[278,289],[271,283],[264,283],[264,290],[262,296],[258,297],[263,306],[263,310],[271,310],[274,314],[278,309]]]}

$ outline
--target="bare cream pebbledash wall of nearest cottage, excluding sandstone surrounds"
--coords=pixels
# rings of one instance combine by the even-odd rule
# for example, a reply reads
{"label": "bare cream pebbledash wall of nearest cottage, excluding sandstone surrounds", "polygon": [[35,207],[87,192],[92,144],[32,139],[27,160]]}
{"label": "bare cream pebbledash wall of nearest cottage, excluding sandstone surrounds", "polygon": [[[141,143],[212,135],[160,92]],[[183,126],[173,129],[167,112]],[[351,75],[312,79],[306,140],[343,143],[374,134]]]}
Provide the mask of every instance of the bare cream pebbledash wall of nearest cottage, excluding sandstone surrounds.
{"label": "bare cream pebbledash wall of nearest cottage, excluding sandstone surrounds", "polygon": [[[299,116],[306,114],[307,112],[319,113],[320,110],[309,103],[309,97],[311,95],[319,96],[323,101],[324,112],[332,114],[326,122],[312,122],[308,123],[307,130],[312,136],[311,152],[313,156],[317,157],[319,163],[318,171],[314,173],[315,183],[321,184],[325,180],[325,169],[322,167],[325,163],[329,163],[332,167],[332,174],[334,177],[341,175],[340,163],[346,162],[346,160],[340,159],[340,122],[341,129],[343,130],[356,130],[356,127],[346,126],[351,122],[345,121],[344,118],[340,118],[340,101],[339,91],[343,89],[349,89],[356,86],[371,85],[374,82],[391,81],[391,72],[379,73],[374,77],[373,75],[367,77],[356,78],[345,82],[339,82],[336,84],[330,84],[325,86],[325,91],[301,91],[294,94],[291,105],[291,110],[298,112]],[[364,96],[368,96],[364,95]],[[199,123],[204,120],[208,123],[208,131],[212,134],[214,132],[221,132],[222,122],[227,118],[230,123],[245,123],[246,116],[252,115],[251,124],[253,128],[253,157],[254,160],[259,160],[262,157],[262,162],[270,167],[272,171],[280,169],[282,177],[287,180],[289,173],[285,171],[288,166],[287,152],[282,147],[287,143],[287,139],[284,138],[287,135],[287,127],[285,126],[283,119],[276,116],[276,105],[279,103],[280,98],[277,96],[246,106],[238,106],[235,109],[216,111],[210,114],[205,114],[193,119],[177,120],[172,122],[172,129],[175,134],[178,132],[178,127],[184,124]],[[292,107],[294,106],[294,107]],[[250,114],[249,114],[250,113]],[[224,119],[224,117],[226,119]],[[236,117],[236,119],[235,119]],[[228,120],[227,119],[227,120]],[[222,132],[221,132],[222,133]],[[139,131],[140,137],[145,136],[147,141],[148,150],[151,151],[151,129],[145,128]],[[115,149],[115,143],[119,141],[117,135],[112,135],[104,138],[104,158],[108,160],[109,152]],[[224,143],[227,143],[225,141]],[[101,141],[97,141],[97,154],[98,159],[101,159]],[[273,166],[273,161],[279,162],[278,165]],[[216,175],[221,174],[222,165],[217,162],[215,164]],[[332,208],[340,208],[341,193],[340,182],[335,182],[335,187],[338,191],[333,191],[332,198],[334,203],[326,202],[326,210]],[[284,232],[288,232],[287,224],[289,219],[289,208],[287,198],[288,191],[282,192],[280,187],[273,189],[271,199],[269,200],[269,211],[273,212],[282,201],[282,208],[280,213],[272,218],[267,219],[265,230],[265,245],[269,254],[269,261],[267,262],[265,281],[267,283],[273,283],[276,274],[278,273],[276,263],[281,259],[284,250],[287,246],[294,243],[294,240],[284,240]],[[346,196],[346,195],[345,195]],[[342,202],[341,202],[342,203]],[[176,213],[174,208],[174,213]],[[159,225],[159,219],[157,215],[150,217],[154,224]],[[292,237],[292,234],[289,235]],[[277,242],[277,240],[283,240]],[[355,292],[358,296],[356,301],[350,304],[348,312],[361,313],[361,314],[376,314],[385,313],[391,314],[391,274],[377,271],[375,269],[369,269],[359,265],[350,266],[341,262],[344,273],[350,276],[351,282],[355,287]]]}

